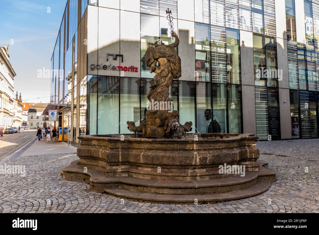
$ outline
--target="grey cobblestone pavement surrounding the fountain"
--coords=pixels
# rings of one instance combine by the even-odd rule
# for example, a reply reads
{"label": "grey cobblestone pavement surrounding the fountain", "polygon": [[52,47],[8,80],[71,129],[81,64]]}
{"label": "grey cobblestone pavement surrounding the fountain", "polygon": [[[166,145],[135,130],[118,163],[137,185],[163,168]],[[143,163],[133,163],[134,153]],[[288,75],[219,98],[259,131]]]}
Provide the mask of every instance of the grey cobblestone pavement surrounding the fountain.
{"label": "grey cobblestone pavement surrounding the fountain", "polygon": [[91,192],[89,184],[63,181],[60,170],[78,159],[75,154],[10,158],[5,161],[7,165],[26,165],[26,176],[0,175],[0,212],[319,213],[319,139],[258,142],[257,147],[260,153],[289,155],[260,155],[260,159],[270,162],[270,169],[277,171],[277,182],[255,197],[200,205],[129,200],[121,205],[119,198]]}

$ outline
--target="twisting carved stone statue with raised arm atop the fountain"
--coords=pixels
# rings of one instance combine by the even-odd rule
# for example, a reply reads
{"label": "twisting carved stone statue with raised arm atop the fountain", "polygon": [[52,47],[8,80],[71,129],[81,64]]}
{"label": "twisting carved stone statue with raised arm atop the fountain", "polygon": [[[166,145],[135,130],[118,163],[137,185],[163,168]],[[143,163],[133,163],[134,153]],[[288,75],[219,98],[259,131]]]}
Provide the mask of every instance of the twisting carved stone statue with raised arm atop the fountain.
{"label": "twisting carved stone statue with raised arm atop the fountain", "polygon": [[153,85],[147,94],[149,100],[146,111],[146,121],[140,126],[135,126],[133,121],[127,121],[128,129],[135,132],[143,132],[146,138],[182,138],[185,132],[190,131],[192,122],[184,125],[179,123],[179,112],[174,110],[174,103],[169,97],[169,87],[173,79],[182,75],[181,58],[175,47],[179,44],[178,36],[172,32],[175,42],[165,45],[162,41],[156,41],[149,46],[145,53],[145,62],[150,67],[150,73],[155,73]]}

